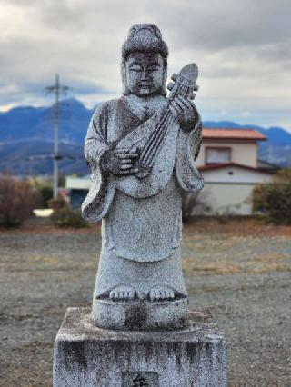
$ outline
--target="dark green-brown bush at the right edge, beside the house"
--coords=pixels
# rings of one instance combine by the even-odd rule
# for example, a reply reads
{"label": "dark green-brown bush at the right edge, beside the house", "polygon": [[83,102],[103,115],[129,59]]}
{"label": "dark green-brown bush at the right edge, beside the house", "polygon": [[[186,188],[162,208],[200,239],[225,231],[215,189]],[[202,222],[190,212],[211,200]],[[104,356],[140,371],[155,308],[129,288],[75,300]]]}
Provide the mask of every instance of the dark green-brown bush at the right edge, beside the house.
{"label": "dark green-brown bush at the right edge, beside the house", "polygon": [[273,182],[257,185],[252,195],[253,211],[267,222],[291,224],[291,170],[281,170]]}

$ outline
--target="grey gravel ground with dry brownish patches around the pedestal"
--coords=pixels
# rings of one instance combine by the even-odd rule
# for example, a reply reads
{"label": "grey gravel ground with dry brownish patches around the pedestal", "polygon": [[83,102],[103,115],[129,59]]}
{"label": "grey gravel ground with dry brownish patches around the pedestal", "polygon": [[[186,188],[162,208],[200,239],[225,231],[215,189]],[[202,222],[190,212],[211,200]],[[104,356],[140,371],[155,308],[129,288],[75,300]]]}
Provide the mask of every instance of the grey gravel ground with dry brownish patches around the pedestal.
{"label": "grey gravel ground with dry brownish patches around the pedestal", "polygon": [[[89,306],[99,228],[0,230],[0,385],[50,386],[68,306]],[[291,227],[214,221],[185,227],[190,306],[229,342],[229,386],[291,386]],[[178,387],[178,386],[177,386]]]}

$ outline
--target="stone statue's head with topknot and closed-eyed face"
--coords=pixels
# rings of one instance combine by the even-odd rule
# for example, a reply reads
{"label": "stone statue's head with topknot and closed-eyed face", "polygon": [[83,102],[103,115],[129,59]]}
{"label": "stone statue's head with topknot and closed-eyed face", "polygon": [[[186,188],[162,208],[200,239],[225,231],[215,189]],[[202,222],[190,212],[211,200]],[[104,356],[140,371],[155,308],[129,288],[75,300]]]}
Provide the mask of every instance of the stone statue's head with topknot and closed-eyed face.
{"label": "stone statue's head with topknot and closed-eyed face", "polygon": [[122,45],[124,95],[166,95],[168,49],[156,25],[133,25]]}

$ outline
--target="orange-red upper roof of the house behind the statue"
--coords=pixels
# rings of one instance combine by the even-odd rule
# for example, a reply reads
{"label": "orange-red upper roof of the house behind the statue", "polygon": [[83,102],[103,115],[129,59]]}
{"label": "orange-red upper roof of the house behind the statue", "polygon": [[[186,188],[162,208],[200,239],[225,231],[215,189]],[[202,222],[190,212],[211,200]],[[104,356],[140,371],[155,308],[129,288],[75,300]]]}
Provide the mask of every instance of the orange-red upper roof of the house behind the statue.
{"label": "orange-red upper roof of the house behind the statue", "polygon": [[237,139],[237,140],[261,140],[266,141],[266,136],[255,129],[232,129],[232,128],[203,128],[204,139]]}

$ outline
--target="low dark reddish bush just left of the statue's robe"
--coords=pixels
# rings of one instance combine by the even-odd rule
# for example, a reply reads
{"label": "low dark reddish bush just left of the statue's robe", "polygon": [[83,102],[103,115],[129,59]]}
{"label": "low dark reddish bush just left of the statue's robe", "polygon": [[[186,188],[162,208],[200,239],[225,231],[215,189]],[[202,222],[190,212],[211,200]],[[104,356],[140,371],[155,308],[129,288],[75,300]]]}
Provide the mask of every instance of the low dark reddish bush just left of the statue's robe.
{"label": "low dark reddish bush just left of the statue's robe", "polygon": [[85,222],[80,210],[72,210],[70,207],[57,209],[51,215],[52,221],[57,227],[88,227],[89,223]]}

